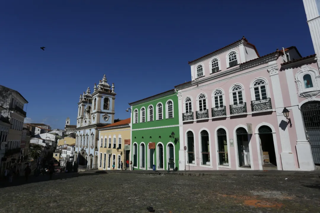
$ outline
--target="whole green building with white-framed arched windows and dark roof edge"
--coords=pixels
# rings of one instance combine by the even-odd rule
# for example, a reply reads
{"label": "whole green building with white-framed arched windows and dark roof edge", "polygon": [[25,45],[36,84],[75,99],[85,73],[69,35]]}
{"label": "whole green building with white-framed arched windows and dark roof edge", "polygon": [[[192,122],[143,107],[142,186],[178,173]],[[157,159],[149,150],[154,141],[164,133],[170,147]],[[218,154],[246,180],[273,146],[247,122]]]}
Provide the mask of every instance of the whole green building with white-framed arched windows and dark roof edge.
{"label": "whole green building with white-framed arched windows and dark roof edge", "polygon": [[[130,158],[134,169],[170,170],[179,167],[179,110],[174,89],[129,103]],[[174,133],[174,134],[173,134]]]}

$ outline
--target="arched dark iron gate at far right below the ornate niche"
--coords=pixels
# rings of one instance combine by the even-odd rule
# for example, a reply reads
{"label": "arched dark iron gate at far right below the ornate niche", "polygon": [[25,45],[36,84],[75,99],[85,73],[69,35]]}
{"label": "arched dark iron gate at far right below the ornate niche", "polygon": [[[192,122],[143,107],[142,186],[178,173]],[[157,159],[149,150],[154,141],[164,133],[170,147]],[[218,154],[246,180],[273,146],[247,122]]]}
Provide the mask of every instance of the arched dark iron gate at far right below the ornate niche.
{"label": "arched dark iron gate at far right below the ornate niche", "polygon": [[307,139],[311,146],[313,162],[320,164],[320,101],[304,103],[300,110]]}

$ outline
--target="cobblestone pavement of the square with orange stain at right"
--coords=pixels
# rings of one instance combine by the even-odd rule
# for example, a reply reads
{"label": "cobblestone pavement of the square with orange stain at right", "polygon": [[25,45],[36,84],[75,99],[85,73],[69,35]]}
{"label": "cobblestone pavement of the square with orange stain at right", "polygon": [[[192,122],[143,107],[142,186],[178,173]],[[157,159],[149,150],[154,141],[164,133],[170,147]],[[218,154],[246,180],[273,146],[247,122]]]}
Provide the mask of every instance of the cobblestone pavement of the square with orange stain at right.
{"label": "cobblestone pavement of the square with orange stain at right", "polygon": [[[319,212],[320,180],[71,173],[1,186],[0,212]],[[20,182],[19,182],[20,181]],[[21,182],[22,181],[22,182]]]}

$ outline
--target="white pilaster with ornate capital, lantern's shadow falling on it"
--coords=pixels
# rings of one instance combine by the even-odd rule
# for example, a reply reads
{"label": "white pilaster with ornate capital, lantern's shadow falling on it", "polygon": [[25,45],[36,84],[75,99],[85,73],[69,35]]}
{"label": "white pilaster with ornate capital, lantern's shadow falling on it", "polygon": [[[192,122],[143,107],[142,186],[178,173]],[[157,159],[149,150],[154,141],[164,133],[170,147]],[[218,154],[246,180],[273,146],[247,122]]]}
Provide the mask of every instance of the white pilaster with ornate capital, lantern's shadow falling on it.
{"label": "white pilaster with ornate capital, lantern's shadow falling on it", "polygon": [[281,152],[282,169],[295,170],[293,153],[290,146],[290,137],[287,129],[288,126],[283,130],[282,129],[283,126],[281,125],[281,123],[284,123],[283,121],[287,122],[287,120],[282,113],[282,110],[284,109],[284,103],[283,103],[282,92],[280,87],[278,69],[279,68],[275,62],[269,63],[268,72],[270,73],[270,78],[272,83],[272,90],[273,90],[273,95],[275,100],[276,116],[278,121],[278,129],[279,129],[281,148],[282,148],[282,152]]}

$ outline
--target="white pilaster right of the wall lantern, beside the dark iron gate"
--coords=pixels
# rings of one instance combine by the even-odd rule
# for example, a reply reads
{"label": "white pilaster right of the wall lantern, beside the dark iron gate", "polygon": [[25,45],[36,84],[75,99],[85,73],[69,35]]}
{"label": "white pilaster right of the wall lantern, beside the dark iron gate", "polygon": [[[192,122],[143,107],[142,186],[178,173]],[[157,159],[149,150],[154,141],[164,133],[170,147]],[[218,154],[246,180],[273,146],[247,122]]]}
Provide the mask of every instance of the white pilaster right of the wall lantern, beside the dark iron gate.
{"label": "white pilaster right of the wall lantern, beside the dark iron gate", "polygon": [[292,124],[292,126],[295,127],[295,131],[297,134],[296,150],[299,169],[302,171],[312,171],[315,169],[315,164],[312,158],[311,146],[309,141],[307,140],[305,129],[303,126],[302,114],[298,107],[299,101],[292,68],[285,70],[285,76],[287,79],[290,102],[292,105],[292,116],[294,119],[294,124]]}

